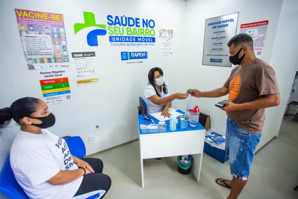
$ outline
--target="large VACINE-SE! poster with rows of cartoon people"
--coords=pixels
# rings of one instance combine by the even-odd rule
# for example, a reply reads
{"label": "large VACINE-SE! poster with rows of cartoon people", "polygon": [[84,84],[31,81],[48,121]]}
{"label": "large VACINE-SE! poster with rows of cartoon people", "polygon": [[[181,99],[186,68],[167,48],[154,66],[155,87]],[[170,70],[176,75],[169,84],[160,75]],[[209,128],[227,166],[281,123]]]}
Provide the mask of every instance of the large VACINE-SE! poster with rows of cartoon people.
{"label": "large VACINE-SE! poster with rows of cartoon people", "polygon": [[15,15],[29,70],[70,67],[62,14],[15,9]]}

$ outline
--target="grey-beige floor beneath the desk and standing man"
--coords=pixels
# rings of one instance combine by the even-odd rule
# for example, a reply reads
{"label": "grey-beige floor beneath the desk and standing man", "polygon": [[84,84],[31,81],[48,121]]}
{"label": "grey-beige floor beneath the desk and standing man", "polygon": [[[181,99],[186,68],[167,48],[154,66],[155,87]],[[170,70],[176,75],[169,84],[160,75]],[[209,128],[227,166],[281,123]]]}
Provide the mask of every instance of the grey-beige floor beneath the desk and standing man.
{"label": "grey-beige floor beneath the desk and standing man", "polygon": [[[215,183],[229,178],[229,161],[222,164],[203,155],[200,181],[177,171],[177,157],[144,160],[145,188],[141,187],[139,142],[95,156],[103,160],[112,179],[105,198],[226,198],[229,189]],[[279,139],[257,152],[249,181],[238,198],[298,198],[298,118],[285,116]]]}

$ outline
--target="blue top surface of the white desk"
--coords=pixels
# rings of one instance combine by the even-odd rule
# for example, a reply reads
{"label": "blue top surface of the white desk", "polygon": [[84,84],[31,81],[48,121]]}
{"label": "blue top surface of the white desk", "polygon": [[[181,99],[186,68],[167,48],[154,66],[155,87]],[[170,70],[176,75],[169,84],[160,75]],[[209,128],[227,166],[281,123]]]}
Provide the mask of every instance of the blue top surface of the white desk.
{"label": "blue top surface of the white desk", "polygon": [[[177,110],[177,112],[180,112],[180,113],[184,114],[184,112],[181,111],[181,110]],[[155,124],[158,124],[158,122],[159,122],[158,120],[156,120],[155,118],[153,118],[150,114],[147,114],[147,115],[148,115],[151,119],[153,119],[153,121],[155,122]],[[143,120],[143,119],[142,119],[143,117],[144,117],[143,115],[138,115],[139,125],[141,125],[141,124],[145,124],[145,125],[153,124],[152,121],[149,122],[149,121]],[[181,131],[205,130],[205,128],[204,128],[199,122],[198,122],[198,124],[197,124],[196,127],[191,127],[191,126],[189,125],[189,122],[188,122],[188,124],[187,124],[187,128],[185,128],[185,129],[180,129],[180,128],[178,127],[178,124],[177,124],[177,125],[176,125],[176,130],[175,130],[175,131],[171,131],[171,130],[170,130],[170,120],[165,121],[165,123],[166,123],[166,125],[167,125],[167,129],[166,129],[166,132],[164,132],[164,133],[168,133],[168,132],[181,132]],[[153,134],[153,133],[142,133],[140,126],[139,126],[139,130],[140,130],[140,135],[143,135],[143,134]]]}

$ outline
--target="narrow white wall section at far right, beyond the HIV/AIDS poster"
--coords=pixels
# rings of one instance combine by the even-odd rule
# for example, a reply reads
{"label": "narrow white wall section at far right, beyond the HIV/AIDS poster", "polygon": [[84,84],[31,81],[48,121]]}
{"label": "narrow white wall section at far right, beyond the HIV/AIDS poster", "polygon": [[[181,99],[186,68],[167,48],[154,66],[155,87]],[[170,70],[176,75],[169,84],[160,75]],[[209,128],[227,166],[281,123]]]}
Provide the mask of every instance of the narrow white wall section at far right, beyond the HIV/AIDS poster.
{"label": "narrow white wall section at far right, beyond the HIV/AIDS poster", "polygon": [[275,132],[276,136],[278,136],[283,113],[288,103],[298,67],[297,7],[298,1],[296,0],[283,1],[269,62],[275,70],[280,88],[280,106],[267,111],[267,120],[271,121],[271,123],[266,125],[266,130],[270,134]]}

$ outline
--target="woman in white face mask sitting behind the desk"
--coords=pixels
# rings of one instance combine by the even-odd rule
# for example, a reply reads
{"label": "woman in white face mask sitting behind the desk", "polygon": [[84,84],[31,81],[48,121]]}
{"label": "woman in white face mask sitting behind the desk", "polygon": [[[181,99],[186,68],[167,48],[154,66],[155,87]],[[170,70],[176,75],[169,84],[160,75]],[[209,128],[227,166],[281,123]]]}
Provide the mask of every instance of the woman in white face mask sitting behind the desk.
{"label": "woman in white face mask sitting behind the desk", "polygon": [[[145,88],[144,101],[147,106],[147,114],[162,112],[164,117],[170,117],[168,109],[174,99],[186,99],[188,94],[176,92],[170,95],[169,87],[164,83],[164,73],[161,68],[152,68],[148,73],[148,86]],[[154,158],[161,161],[161,158]]]}

